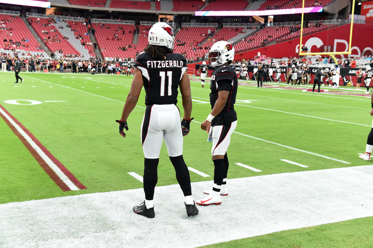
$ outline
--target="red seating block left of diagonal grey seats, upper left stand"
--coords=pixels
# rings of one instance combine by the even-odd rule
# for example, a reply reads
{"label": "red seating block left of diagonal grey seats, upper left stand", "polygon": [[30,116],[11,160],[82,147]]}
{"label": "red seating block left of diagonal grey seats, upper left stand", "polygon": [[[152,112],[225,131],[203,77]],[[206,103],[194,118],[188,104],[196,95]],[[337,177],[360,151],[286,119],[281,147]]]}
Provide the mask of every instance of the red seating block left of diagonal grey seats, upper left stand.
{"label": "red seating block left of diagonal grey seats, upper left stand", "polygon": [[[59,54],[78,55],[78,57],[80,57],[80,53],[69,43],[68,39],[63,39],[63,35],[57,30],[57,27],[51,25],[55,23],[53,18],[46,19],[31,17],[30,19],[32,20],[32,28],[34,28],[35,32],[43,40],[44,44],[46,44],[50,51],[59,51],[62,49],[62,53]],[[43,30],[48,33],[44,34]],[[51,32],[51,30],[56,30],[56,32]],[[48,39],[48,37],[50,37],[50,39]],[[55,41],[53,41],[53,39]]]}

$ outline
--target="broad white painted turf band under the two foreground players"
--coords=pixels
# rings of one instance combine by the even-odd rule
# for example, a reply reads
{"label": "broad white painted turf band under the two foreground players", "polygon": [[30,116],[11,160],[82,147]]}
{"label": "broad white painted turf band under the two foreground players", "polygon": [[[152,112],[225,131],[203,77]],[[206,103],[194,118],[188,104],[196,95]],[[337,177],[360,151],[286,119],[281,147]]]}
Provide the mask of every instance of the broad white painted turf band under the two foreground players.
{"label": "broad white painted turf band under the two foreground players", "polygon": [[[228,179],[229,197],[219,206],[199,206],[194,217],[186,216],[178,184],[155,188],[154,219],[132,211],[144,200],[142,188],[0,204],[1,245],[200,247],[373,216],[372,181],[372,165]],[[193,182],[194,200],[212,185]]]}

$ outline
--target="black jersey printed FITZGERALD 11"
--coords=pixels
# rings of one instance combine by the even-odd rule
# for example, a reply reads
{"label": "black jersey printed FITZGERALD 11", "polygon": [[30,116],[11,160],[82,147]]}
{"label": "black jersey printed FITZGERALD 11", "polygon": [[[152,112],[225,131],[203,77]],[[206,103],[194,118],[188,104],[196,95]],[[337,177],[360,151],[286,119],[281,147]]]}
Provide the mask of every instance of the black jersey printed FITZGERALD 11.
{"label": "black jersey printed FITZGERALD 11", "polygon": [[176,104],[180,80],[188,69],[186,58],[170,53],[164,60],[153,60],[142,52],[137,55],[134,67],[141,70],[144,80],[145,105]]}

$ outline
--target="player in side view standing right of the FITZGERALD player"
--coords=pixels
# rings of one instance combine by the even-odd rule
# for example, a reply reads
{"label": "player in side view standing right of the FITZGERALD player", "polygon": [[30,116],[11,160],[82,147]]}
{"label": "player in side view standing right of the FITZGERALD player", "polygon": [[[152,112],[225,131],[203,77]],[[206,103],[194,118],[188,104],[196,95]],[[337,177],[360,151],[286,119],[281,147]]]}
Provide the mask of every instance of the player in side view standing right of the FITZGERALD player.
{"label": "player in side view standing right of the FITZGERALD player", "polygon": [[214,162],[214,186],[205,190],[206,198],[196,201],[200,205],[220,204],[220,195],[228,195],[226,185],[228,174],[227,150],[231,135],[237,126],[237,114],[234,110],[238,80],[235,70],[228,66],[234,58],[234,48],[227,41],[218,41],[212,45],[207,62],[216,67],[211,75],[210,104],[212,111],[201,124],[212,139],[211,155]]}

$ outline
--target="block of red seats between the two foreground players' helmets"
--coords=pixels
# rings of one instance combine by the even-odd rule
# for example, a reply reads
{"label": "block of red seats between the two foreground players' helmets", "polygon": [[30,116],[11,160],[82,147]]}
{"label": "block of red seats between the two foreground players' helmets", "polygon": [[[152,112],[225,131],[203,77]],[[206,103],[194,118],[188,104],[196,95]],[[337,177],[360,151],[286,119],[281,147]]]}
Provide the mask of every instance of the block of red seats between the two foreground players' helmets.
{"label": "block of red seats between the two foreground players' helmets", "polygon": [[[208,30],[214,31],[214,27],[183,27],[175,37],[173,51],[175,53],[185,54],[189,60],[196,60],[204,57],[207,50],[197,49],[198,44],[207,39]],[[202,36],[205,34],[206,36]],[[180,42],[178,42],[180,41]],[[180,45],[185,42],[185,45]],[[195,51],[193,50],[195,48]]]}

